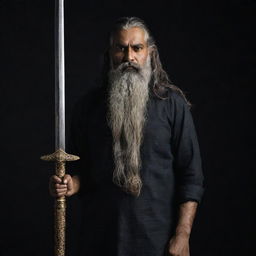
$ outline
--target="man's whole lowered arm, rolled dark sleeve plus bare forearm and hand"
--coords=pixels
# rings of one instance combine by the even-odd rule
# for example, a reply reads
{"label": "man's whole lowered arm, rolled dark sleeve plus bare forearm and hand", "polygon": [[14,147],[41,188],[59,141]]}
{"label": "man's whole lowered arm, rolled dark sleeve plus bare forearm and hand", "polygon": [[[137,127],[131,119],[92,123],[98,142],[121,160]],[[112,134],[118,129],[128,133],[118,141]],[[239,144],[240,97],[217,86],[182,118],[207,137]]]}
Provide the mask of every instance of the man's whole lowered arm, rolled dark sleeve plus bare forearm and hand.
{"label": "man's whole lowered arm, rolled dark sleeve plus bare forearm and hand", "polygon": [[170,97],[169,103],[179,208],[176,230],[168,249],[172,256],[189,256],[190,233],[204,191],[201,156],[189,107],[182,97],[175,94]]}

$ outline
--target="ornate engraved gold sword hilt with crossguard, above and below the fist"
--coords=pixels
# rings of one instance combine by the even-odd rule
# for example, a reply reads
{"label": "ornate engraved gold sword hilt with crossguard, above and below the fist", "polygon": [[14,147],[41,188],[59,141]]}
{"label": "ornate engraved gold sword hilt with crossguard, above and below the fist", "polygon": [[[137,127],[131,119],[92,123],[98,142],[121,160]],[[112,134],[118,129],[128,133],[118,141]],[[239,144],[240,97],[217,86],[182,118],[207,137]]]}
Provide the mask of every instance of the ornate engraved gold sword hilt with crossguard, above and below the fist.
{"label": "ornate engraved gold sword hilt with crossguard, above and below the fist", "polygon": [[[44,161],[52,161],[56,164],[56,175],[59,178],[65,176],[66,161],[76,161],[78,156],[67,154],[64,150],[58,149],[51,155],[41,156]],[[65,229],[66,229],[66,198],[61,196],[55,199],[54,205],[55,216],[55,256],[65,255]]]}

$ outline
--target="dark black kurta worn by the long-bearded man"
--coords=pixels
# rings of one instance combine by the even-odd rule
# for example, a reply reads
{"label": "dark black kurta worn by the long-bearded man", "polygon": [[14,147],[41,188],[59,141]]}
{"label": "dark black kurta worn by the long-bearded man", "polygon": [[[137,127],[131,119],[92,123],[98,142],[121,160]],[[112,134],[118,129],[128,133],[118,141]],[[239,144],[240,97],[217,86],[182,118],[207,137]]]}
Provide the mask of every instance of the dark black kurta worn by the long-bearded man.
{"label": "dark black kurta worn by the long-bearded man", "polygon": [[107,125],[106,92],[97,91],[79,105],[72,125],[72,153],[81,157],[83,256],[164,256],[176,226],[178,204],[203,194],[196,132],[184,99],[151,95],[141,147],[139,197],[112,182],[112,135]]}

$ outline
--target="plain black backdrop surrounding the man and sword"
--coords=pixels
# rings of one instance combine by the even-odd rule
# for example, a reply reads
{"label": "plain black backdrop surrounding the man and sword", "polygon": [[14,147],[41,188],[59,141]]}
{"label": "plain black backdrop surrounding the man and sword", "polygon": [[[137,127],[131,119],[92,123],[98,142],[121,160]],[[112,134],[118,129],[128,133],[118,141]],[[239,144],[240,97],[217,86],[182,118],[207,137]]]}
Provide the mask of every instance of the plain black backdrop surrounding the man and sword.
{"label": "plain black backdrop surrounding the man and sword", "polygon": [[[74,103],[95,86],[120,16],[146,21],[164,68],[193,103],[206,191],[192,256],[254,255],[255,7],[252,0],[66,1],[67,126]],[[0,1],[0,65],[0,255],[53,255],[54,167],[39,159],[54,151],[53,0]],[[70,198],[72,256],[79,210]]]}

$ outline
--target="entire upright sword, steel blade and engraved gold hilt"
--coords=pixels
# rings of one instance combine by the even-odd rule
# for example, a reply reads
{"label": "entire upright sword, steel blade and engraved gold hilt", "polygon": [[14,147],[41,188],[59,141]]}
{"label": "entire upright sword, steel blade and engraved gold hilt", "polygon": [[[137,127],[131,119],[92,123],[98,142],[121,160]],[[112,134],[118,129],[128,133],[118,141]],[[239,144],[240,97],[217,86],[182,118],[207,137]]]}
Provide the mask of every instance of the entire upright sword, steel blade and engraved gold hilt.
{"label": "entire upright sword, steel blade and engraved gold hilt", "polygon": [[[55,0],[55,152],[42,156],[54,161],[56,175],[63,178],[66,161],[78,160],[78,156],[65,152],[65,60],[64,60],[64,0]],[[55,199],[55,256],[65,255],[66,200]]]}

